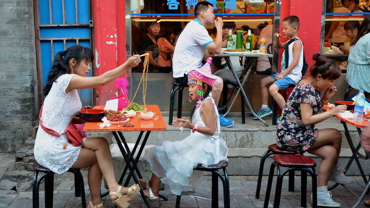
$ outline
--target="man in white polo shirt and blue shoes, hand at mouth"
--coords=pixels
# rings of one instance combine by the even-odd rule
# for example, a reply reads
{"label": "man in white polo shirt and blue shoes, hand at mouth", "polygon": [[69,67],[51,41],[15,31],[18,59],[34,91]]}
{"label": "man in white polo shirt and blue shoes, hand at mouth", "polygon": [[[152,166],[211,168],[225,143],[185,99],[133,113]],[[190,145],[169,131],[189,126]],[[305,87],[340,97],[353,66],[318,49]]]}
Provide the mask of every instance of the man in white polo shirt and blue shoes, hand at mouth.
{"label": "man in white polo shirt and blue shoes, hand at mouth", "polygon": [[[201,1],[195,5],[194,11],[195,19],[189,22],[179,35],[172,57],[173,76],[181,85],[187,84],[188,71],[199,69],[202,66],[203,58],[209,56],[208,51],[214,54],[221,52],[223,23],[220,17],[215,20],[213,4]],[[205,28],[213,24],[217,29],[215,41],[208,35]],[[219,103],[222,87],[222,79],[217,77],[211,91],[216,105]],[[220,115],[220,124],[222,127],[230,127],[234,121]]]}

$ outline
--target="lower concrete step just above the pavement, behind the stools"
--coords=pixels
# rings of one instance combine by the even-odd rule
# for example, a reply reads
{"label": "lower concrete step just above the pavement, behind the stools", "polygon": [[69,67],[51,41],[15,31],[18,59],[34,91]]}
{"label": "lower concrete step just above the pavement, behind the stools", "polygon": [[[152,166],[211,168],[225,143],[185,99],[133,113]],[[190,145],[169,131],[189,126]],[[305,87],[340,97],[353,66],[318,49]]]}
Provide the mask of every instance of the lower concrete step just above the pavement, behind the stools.
{"label": "lower concrete step just above the pavement, behind the stools", "polygon": [[[145,148],[149,148],[153,145],[147,145]],[[129,147],[132,150],[134,147],[133,143],[129,143]],[[261,160],[261,156],[267,150],[267,148],[229,148],[228,152],[228,159],[229,159],[229,166],[227,167],[227,172],[230,175],[258,175],[259,173],[259,163]],[[361,151],[360,151],[361,152]],[[113,165],[116,177],[119,177],[123,171],[125,166],[125,162],[123,160],[122,154],[119,151],[117,144],[111,144],[111,153],[113,157]],[[364,153],[364,152],[362,152]],[[151,175],[150,172],[150,164],[144,159],[145,149],[141,158],[138,163],[139,170],[143,174],[143,178],[149,178]],[[321,161],[321,158],[311,155],[309,153],[305,153],[304,155],[313,158],[317,163],[316,172],[318,173],[318,167]],[[352,152],[349,148],[343,148],[340,152],[339,163],[341,168],[344,169],[348,160],[352,156]],[[136,154],[135,154],[136,157]],[[271,165],[272,159],[267,158],[263,168],[263,174],[268,174],[269,167]],[[367,175],[369,175],[369,167],[370,161],[360,159],[360,163],[364,168],[364,171]],[[347,172],[348,175],[360,175],[359,170],[355,161],[353,161],[349,171]]]}

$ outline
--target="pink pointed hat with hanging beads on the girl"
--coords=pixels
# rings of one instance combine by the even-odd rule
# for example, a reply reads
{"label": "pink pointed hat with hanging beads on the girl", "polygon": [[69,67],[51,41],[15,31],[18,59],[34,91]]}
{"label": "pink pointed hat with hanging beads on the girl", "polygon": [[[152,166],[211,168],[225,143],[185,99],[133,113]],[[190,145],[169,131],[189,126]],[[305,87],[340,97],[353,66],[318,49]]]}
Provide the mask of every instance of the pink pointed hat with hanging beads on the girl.
{"label": "pink pointed hat with hanging beads on the girl", "polygon": [[[216,82],[216,77],[211,72],[212,57],[207,59],[207,62],[199,69],[192,69],[187,73],[187,84],[197,84],[198,101],[203,101],[203,83],[213,85]],[[191,101],[191,98],[189,98]]]}

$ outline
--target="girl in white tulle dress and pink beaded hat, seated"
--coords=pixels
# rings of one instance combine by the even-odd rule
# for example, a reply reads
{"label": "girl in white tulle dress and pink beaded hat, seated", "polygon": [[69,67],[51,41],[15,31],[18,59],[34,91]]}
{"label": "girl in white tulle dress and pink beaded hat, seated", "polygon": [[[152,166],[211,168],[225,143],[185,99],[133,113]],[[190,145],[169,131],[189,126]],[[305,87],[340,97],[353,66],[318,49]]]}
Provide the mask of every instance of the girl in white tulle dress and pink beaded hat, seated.
{"label": "girl in white tulle dress and pink beaded hat, seated", "polygon": [[140,183],[151,201],[158,200],[161,181],[172,193],[181,195],[184,186],[200,184],[202,172],[193,171],[198,164],[207,167],[228,160],[226,143],[219,137],[219,113],[210,94],[216,78],[202,69],[204,66],[188,73],[189,100],[198,99],[190,114],[192,119],[178,118],[172,123],[190,129],[190,136],[181,141],[160,141],[145,150],[144,157],[153,174],[150,180]]}

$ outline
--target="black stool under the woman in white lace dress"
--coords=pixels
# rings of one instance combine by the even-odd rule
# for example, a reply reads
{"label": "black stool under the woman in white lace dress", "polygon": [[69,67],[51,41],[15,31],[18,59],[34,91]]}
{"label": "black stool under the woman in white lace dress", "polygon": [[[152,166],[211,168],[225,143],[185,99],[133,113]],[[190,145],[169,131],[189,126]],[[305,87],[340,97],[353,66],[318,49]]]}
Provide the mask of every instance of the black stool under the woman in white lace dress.
{"label": "black stool under the woman in white lace dress", "polygon": [[[45,208],[53,208],[54,172],[42,167],[37,162],[34,163],[33,168],[36,172],[32,184],[32,207],[38,208],[38,190],[42,179],[45,179]],[[38,172],[43,172],[39,178],[37,178]],[[82,208],[86,208],[85,187],[81,172],[74,168],[67,172],[74,173],[74,196],[81,197]]]}

